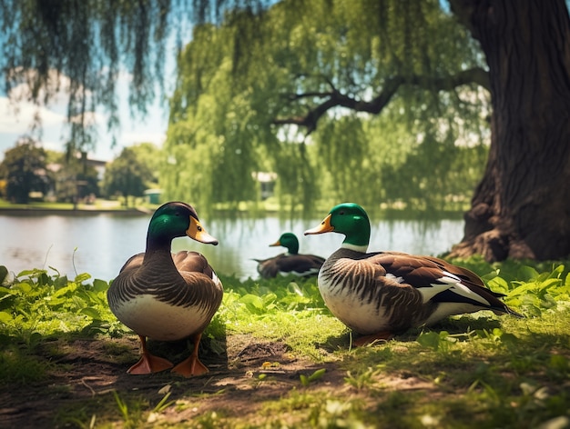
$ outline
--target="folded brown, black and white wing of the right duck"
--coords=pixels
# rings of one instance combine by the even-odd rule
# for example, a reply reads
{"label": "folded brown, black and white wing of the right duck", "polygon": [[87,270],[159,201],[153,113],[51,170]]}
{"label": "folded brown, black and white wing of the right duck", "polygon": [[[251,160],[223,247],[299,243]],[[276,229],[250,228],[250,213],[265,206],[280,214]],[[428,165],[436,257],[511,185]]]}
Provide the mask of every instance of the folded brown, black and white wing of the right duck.
{"label": "folded brown, black and white wing of the right duck", "polygon": [[386,276],[399,284],[410,284],[422,294],[424,303],[471,304],[498,313],[519,315],[507,307],[476,274],[442,259],[395,252],[372,254],[368,262],[379,264]]}

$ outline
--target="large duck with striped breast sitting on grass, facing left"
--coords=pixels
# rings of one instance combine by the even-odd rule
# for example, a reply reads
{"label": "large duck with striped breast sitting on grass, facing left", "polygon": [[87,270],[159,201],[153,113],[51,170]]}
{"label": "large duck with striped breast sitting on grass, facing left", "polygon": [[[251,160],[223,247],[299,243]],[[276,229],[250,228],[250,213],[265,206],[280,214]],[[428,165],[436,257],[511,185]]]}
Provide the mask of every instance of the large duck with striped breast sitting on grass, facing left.
{"label": "large duck with striped breast sitting on grass, facing left", "polygon": [[491,310],[522,317],[471,271],[431,256],[367,253],[371,226],[360,205],[336,205],[305,234],[344,234],[322,265],[318,284],[331,313],[361,334],[355,344],[389,339],[452,314]]}

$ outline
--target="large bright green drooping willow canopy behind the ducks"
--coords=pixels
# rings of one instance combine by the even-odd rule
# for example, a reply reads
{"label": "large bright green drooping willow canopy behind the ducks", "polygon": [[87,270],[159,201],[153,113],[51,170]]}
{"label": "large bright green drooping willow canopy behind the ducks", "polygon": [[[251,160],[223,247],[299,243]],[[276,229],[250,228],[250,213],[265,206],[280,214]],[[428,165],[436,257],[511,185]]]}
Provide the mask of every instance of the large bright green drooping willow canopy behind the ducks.
{"label": "large bright green drooping willow canopy behind the ducks", "polygon": [[[231,11],[196,26],[178,58],[161,187],[168,199],[236,204],[259,196],[255,172],[271,171],[280,205],[305,212],[318,198],[461,210],[483,175],[488,95],[429,82],[481,65],[436,1]],[[402,85],[381,115],[357,112],[394,76]],[[336,103],[312,122],[311,111]]]}

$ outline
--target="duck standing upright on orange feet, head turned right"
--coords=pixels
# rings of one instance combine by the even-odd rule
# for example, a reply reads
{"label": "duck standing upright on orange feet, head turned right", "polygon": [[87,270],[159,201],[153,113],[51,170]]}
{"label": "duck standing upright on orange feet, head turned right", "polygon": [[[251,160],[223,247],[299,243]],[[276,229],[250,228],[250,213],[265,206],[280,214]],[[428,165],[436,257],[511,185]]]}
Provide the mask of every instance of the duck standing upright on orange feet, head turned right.
{"label": "duck standing upright on orange feet, head turned right", "polygon": [[158,341],[189,337],[194,349],[172,371],[185,376],[208,372],[198,359],[198,347],[221,303],[223,287],[202,254],[170,253],[172,239],[184,235],[200,243],[218,244],[190,205],[170,202],[158,207],[148,224],[146,252],[131,256],[107,291],[113,314],[140,339],[142,356],[128,369],[130,374],[156,373],[174,366],[148,353],[147,337]]}

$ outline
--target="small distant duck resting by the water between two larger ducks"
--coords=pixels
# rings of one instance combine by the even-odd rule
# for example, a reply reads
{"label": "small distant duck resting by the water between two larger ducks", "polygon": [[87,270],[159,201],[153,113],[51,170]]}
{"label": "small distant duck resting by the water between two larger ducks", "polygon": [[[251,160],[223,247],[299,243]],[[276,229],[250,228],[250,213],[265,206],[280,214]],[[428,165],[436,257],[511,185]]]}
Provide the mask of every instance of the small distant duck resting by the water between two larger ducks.
{"label": "small distant duck resting by the water between two larger ducks", "polygon": [[324,263],[324,258],[314,254],[300,254],[299,240],[292,233],[281,234],[279,240],[270,246],[281,245],[287,248],[284,254],[278,254],[268,259],[255,259],[258,262],[258,273],[263,278],[294,274],[300,277],[316,275]]}

